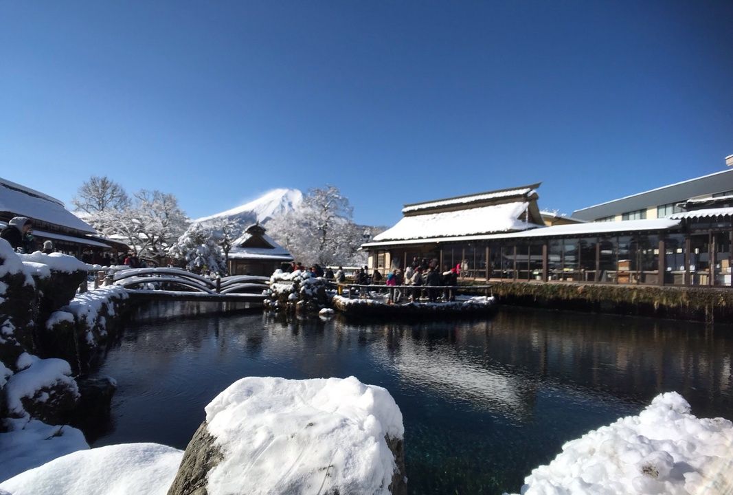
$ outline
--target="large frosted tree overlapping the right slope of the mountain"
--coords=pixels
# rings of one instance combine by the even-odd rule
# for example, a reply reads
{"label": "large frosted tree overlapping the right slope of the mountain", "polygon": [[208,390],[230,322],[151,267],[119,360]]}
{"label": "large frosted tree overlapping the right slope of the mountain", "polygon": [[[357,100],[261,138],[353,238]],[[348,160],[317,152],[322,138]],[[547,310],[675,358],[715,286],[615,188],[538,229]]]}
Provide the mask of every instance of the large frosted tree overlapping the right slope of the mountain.
{"label": "large frosted tree overlapping the right slope of the mountain", "polygon": [[268,223],[268,232],[304,263],[361,262],[363,229],[353,223],[349,200],[338,188],[311,189],[300,208]]}

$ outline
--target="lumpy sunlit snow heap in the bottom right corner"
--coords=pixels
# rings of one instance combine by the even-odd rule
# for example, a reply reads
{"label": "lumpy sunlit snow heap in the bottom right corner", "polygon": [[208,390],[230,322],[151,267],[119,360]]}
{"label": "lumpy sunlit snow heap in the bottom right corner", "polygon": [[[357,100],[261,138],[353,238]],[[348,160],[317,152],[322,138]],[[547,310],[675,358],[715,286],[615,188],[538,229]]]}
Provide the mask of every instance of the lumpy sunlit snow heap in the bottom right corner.
{"label": "lumpy sunlit snow heap in the bottom right corner", "polygon": [[521,493],[692,495],[732,488],[733,424],[698,419],[682,396],[668,392],[638,416],[564,444],[526,477]]}

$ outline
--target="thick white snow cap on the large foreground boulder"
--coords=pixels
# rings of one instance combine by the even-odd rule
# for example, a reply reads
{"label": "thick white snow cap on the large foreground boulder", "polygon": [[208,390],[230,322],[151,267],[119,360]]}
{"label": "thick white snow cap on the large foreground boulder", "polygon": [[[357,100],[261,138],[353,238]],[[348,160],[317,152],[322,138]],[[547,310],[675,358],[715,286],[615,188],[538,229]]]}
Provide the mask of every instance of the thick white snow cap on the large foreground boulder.
{"label": "thick white snow cap on the large foreground boulder", "polygon": [[395,469],[385,436],[402,439],[402,413],[386,389],[354,377],[243,378],[206,406],[224,461],[210,495],[388,494]]}

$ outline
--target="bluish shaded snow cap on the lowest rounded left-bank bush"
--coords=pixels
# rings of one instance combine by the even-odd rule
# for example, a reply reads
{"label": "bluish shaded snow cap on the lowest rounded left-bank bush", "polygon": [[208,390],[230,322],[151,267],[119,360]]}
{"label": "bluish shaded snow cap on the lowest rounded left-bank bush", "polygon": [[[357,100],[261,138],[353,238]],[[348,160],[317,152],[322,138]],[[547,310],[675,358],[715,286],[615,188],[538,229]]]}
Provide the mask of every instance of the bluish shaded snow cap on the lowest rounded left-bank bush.
{"label": "bluish shaded snow cap on the lowest rounded left-bank bush", "polygon": [[[28,353],[21,354],[16,363],[18,373],[12,375],[5,384],[5,398],[7,408],[11,414],[29,419],[29,414],[23,408],[23,397],[34,398],[41,389],[48,389],[56,385],[70,390],[76,397],[79,396],[76,382],[71,377],[71,367],[63,359],[40,359]],[[42,400],[43,397],[36,397]]]}

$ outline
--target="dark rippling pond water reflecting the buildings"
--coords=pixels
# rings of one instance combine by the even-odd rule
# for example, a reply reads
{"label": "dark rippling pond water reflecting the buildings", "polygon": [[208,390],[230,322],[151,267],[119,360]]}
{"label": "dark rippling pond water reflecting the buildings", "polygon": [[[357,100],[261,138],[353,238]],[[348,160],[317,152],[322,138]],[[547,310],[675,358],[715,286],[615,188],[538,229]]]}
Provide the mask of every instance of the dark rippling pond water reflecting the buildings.
{"label": "dark rippling pond water reflecting the buildings", "polygon": [[[152,315],[177,312],[173,303]],[[489,320],[358,323],[261,314],[130,323],[100,369],[117,379],[94,446],[185,449],[204,406],[243,376],[386,387],[405,421],[411,494],[518,491],[588,430],[676,390],[733,419],[733,327],[502,308]]]}

